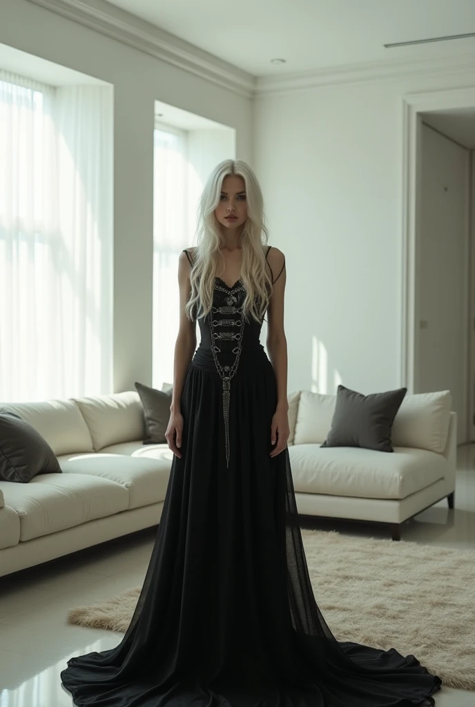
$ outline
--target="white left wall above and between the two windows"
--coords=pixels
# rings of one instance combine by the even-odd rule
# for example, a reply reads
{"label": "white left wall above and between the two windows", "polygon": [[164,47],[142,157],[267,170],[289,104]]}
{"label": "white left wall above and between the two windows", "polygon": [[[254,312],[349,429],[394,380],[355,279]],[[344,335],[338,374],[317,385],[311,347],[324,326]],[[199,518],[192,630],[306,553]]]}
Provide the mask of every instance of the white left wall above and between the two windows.
{"label": "white left wall above and between the two windows", "polygon": [[0,42],[114,85],[114,387],[150,384],[154,101],[234,128],[251,160],[251,100],[26,0],[1,0]]}

